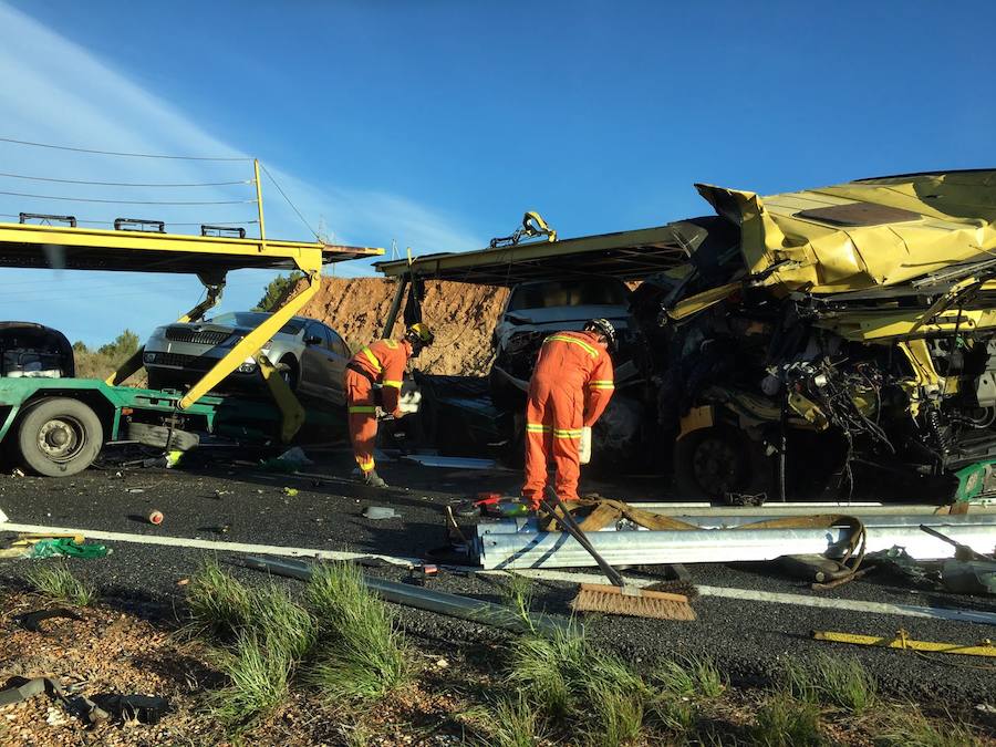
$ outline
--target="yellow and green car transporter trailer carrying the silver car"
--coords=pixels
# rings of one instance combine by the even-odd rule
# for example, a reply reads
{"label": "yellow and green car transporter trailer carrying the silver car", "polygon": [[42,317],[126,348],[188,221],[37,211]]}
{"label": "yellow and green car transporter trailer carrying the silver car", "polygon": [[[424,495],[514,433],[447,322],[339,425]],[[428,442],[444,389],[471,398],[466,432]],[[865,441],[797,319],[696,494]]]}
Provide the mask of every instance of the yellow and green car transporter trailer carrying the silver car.
{"label": "yellow and green car transporter trailer carrying the silver car", "polygon": [[239,407],[252,406],[249,401],[243,404],[237,397],[209,394],[250,356],[259,362],[279,408],[280,437],[290,440],[304,422],[304,411],[259,351],[315,294],[323,264],[377,257],[384,250],[271,240],[266,238],[262,220],[260,234],[256,239],[0,222],[0,267],[196,274],[207,289],[207,298],[180,317],[179,322],[201,319],[217,304],[230,270],[297,269],[305,278],[303,289],[238,342],[186,393],[121,386],[142,367],[142,350],[106,381],[0,377],[3,446],[20,452],[34,471],[62,476],[85,469],[103,444],[117,437],[124,418],[137,415],[139,421],[158,419],[172,430],[180,428],[185,417],[189,417],[212,430],[219,412],[238,414]]}

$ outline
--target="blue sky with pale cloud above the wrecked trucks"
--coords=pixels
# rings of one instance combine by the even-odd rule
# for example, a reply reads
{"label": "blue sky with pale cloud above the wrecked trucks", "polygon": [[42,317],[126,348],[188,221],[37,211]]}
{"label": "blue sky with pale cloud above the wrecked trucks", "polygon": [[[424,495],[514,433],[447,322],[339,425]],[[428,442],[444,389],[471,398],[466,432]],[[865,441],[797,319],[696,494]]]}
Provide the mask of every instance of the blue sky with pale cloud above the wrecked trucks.
{"label": "blue sky with pale cloud above the wrecked trucks", "polygon": [[[563,237],[708,212],[694,181],[771,194],[994,166],[996,51],[985,31],[994,23],[996,7],[984,2],[0,0],[0,137],[258,156],[338,241],[465,250],[508,235],[526,209]],[[3,143],[0,172],[249,177],[242,163]],[[263,187],[268,235],[308,238]],[[167,198],[8,177],[0,190]],[[193,193],[170,195],[251,197],[247,185]],[[0,214],[10,215],[105,220],[138,209],[147,215],[134,217],[196,222],[251,218],[253,206],[0,195]],[[222,308],[251,305],[268,279],[234,273]],[[186,278],[3,269],[0,318],[95,344],[125,325],[144,336],[199,292]]]}

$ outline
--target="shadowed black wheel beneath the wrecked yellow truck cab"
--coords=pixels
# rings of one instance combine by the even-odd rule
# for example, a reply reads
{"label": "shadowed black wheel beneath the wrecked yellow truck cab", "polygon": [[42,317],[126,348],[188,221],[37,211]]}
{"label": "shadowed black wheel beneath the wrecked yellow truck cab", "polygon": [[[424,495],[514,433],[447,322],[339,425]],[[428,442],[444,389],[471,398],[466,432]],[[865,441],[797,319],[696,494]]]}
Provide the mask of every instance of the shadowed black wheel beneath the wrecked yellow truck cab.
{"label": "shadowed black wheel beneath the wrecked yellow truck cab", "polygon": [[730,492],[765,489],[757,447],[738,430],[713,426],[693,430],[674,445],[674,476],[683,497],[723,499]]}

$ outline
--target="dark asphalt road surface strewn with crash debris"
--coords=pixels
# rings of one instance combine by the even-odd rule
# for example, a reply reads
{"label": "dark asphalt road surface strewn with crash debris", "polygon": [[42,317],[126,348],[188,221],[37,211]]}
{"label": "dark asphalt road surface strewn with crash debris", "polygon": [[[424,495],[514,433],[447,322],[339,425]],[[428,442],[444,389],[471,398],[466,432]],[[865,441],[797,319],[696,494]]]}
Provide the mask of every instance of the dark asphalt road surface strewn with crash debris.
{"label": "dark asphalt road surface strewn with crash debris", "polygon": [[[519,479],[509,471],[454,471],[392,463],[382,464],[378,470],[388,484],[405,487],[370,490],[352,481],[352,460],[341,452],[324,454],[319,464],[307,469],[323,477],[262,473],[250,464],[231,461],[219,450],[205,457],[196,469],[111,466],[68,479],[0,476],[0,509],[18,523],[418,557],[445,543],[442,507],[446,502],[479,490],[512,491]],[[297,495],[287,495],[288,487],[297,489]],[[652,480],[616,486],[588,481],[582,484],[584,489],[620,498],[660,498]],[[362,511],[367,506],[394,507],[401,518],[365,519]],[[144,519],[153,508],[165,513],[160,527]],[[228,529],[219,533],[220,527]],[[185,548],[111,544],[111,556],[74,560],[74,570],[93,581],[113,604],[149,616],[173,618],[181,609],[183,587],[177,581],[188,578],[206,556],[218,554],[236,564],[240,558],[238,553]],[[20,583],[32,562],[37,561],[0,560],[0,583]],[[766,564],[688,568],[694,581],[703,585],[996,612],[992,600],[920,591],[878,575],[834,591],[813,592]],[[371,572],[396,579],[405,574],[394,569]],[[253,583],[266,580],[248,569],[237,568],[236,573]],[[501,598],[501,581],[492,575],[444,572],[430,583],[481,599]],[[538,582],[536,608],[567,615],[572,594],[570,584]],[[640,664],[664,656],[710,654],[737,684],[770,682],[787,657],[831,652],[859,656],[878,676],[882,689],[892,695],[954,708],[996,706],[994,670],[979,668],[992,667],[988,660],[927,657],[810,637],[813,630],[892,635],[902,627],[914,639],[973,644],[996,639],[996,626],[716,596],[699,598],[694,605],[698,614],[694,622],[596,615],[585,620],[585,627],[593,640]],[[400,614],[408,632],[433,651],[470,647],[500,637],[480,625],[430,613],[400,609]]]}

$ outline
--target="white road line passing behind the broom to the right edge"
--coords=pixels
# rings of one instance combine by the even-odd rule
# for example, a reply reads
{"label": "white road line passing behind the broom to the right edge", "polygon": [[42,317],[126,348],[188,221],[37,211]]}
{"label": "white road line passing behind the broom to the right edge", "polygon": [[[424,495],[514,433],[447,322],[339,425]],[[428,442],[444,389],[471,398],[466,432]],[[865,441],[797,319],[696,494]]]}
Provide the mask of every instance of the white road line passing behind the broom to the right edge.
{"label": "white road line passing behind the broom to the right edge", "polygon": [[[547,581],[568,581],[570,583],[605,583],[605,578],[594,573],[564,573],[543,570],[516,571],[521,575]],[[649,587],[656,583],[647,579],[626,579],[635,587]],[[895,614],[906,618],[932,618],[954,622],[982,623],[996,625],[996,612],[976,610],[957,610],[943,606],[919,606],[915,604],[892,604],[889,602],[865,602],[857,599],[827,599],[824,596],[806,596],[778,591],[756,591],[754,589],[734,589],[728,587],[699,587],[703,596],[723,596],[750,602],[770,602],[774,604],[796,604],[798,606],[816,606],[828,610],[847,610],[849,612],[868,612],[871,614]]]}

